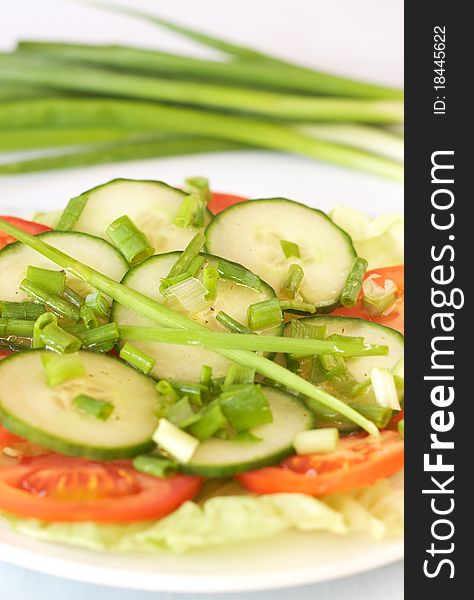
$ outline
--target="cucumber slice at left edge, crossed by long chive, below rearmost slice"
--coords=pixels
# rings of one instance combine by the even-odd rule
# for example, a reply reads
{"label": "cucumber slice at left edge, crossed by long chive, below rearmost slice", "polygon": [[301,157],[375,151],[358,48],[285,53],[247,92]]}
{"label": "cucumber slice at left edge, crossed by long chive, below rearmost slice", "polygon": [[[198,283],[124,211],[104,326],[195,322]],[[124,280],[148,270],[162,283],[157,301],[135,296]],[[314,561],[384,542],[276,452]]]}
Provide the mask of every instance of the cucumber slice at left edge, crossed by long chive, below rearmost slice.
{"label": "cucumber slice at left edge, crossed by long chive, below rearmost slice", "polygon": [[[98,237],[73,231],[46,231],[38,237],[115,281],[120,281],[129,269],[127,261],[120,252]],[[26,277],[29,265],[60,270],[55,263],[19,242],[5,246],[0,251],[0,273],[2,274],[0,298],[2,300],[9,302],[28,300],[26,294],[19,291],[19,288]],[[67,285],[81,296],[92,291],[90,285],[70,273],[67,273]]]}

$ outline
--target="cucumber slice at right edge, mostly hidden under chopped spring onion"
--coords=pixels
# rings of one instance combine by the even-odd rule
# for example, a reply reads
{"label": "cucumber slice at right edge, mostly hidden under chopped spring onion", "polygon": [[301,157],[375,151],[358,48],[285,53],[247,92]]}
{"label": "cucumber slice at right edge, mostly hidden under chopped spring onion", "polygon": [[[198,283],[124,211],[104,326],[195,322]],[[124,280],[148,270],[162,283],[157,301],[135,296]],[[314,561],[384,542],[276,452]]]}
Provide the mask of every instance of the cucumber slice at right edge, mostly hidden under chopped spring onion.
{"label": "cucumber slice at right edge, mostly hidden under chopped spring onion", "polygon": [[[389,351],[386,356],[366,356],[358,358],[347,358],[346,364],[349,371],[358,382],[369,378],[372,367],[393,368],[399,359],[403,356],[404,339],[403,335],[385,325],[357,319],[355,317],[338,317],[323,315],[319,317],[306,317],[300,319],[303,323],[312,323],[314,325],[326,325],[327,335],[347,335],[353,337],[363,337],[367,344],[381,344],[388,346]],[[291,335],[291,326],[285,326],[285,335]]]}

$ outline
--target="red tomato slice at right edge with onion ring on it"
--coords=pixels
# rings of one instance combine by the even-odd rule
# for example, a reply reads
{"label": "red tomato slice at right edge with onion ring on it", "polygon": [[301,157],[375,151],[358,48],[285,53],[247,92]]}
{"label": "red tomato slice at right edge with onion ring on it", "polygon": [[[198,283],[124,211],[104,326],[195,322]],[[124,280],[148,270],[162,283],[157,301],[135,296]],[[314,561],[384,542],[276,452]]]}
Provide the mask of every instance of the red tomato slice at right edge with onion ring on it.
{"label": "red tomato slice at right edge with onion ring on it", "polygon": [[405,269],[403,265],[398,265],[395,267],[383,267],[381,269],[372,269],[371,271],[367,271],[364,279],[370,277],[370,275],[378,274],[380,277],[377,279],[377,283],[383,286],[386,279],[391,279],[398,288],[396,293],[396,302],[393,310],[390,311],[387,315],[369,315],[369,313],[362,307],[362,292],[359,295],[359,299],[357,304],[351,308],[341,307],[336,309],[332,314],[334,315],[343,315],[346,317],[359,317],[360,319],[366,319],[367,321],[374,321],[375,323],[380,323],[381,325],[387,325],[387,327],[392,327],[392,329],[397,329],[401,333],[404,330],[405,324],[405,309],[404,309],[404,293],[405,293],[405,283],[404,283],[404,275]]}

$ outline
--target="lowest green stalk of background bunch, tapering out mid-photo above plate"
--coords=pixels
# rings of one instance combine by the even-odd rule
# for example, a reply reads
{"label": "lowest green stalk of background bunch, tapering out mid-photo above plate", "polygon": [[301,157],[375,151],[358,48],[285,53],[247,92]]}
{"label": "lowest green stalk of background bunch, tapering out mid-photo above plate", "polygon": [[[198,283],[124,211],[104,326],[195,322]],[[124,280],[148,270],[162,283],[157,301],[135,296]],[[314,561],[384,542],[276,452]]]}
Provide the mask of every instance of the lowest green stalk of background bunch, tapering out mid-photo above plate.
{"label": "lowest green stalk of background bunch, tapering out mid-photo above plate", "polygon": [[[6,135],[8,134],[9,132]],[[2,145],[3,135],[3,132],[0,131],[0,146]],[[156,138],[157,136],[154,136],[152,141],[94,144],[62,152],[61,154],[54,153],[39,158],[4,162],[0,164],[0,175],[69,169],[103,163],[136,161],[143,158],[157,158],[160,156],[181,156],[182,154],[241,150],[247,147],[239,142],[226,139],[212,139],[210,137],[173,136],[163,139]]]}

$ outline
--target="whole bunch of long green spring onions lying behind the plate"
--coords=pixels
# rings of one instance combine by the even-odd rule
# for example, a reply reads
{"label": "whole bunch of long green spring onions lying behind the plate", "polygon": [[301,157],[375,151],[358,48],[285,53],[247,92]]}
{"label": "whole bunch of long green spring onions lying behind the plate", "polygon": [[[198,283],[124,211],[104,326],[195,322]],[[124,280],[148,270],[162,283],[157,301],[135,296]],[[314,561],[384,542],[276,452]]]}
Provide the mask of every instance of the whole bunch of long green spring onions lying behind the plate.
{"label": "whole bunch of long green spring onions lying behind the plate", "polygon": [[21,41],[0,54],[0,152],[42,152],[10,158],[0,175],[264,148],[402,180],[403,137],[387,128],[403,122],[401,90],[290,64],[124,7],[101,8],[224,59]]}

